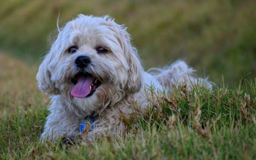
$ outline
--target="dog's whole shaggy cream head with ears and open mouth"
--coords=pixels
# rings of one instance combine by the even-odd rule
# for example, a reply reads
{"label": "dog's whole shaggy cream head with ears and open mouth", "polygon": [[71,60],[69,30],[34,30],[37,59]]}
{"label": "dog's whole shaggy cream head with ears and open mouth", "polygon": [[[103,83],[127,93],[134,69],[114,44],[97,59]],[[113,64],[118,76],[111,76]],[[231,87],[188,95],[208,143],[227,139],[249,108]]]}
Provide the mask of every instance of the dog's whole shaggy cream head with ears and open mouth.
{"label": "dog's whole shaggy cream head with ears and open mouth", "polygon": [[91,112],[140,90],[142,70],[123,26],[108,16],[79,15],[59,32],[37,79],[43,92]]}

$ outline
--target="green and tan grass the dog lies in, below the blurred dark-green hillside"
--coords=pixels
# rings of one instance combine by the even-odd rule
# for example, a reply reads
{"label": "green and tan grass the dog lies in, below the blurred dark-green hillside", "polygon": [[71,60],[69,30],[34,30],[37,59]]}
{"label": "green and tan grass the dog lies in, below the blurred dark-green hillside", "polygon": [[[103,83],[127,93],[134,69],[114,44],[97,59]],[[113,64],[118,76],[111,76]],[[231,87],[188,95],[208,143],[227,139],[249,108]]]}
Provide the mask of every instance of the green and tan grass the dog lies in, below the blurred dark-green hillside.
{"label": "green and tan grass the dog lies in, below the blurred dark-green hillside", "polygon": [[122,136],[65,145],[38,141],[49,100],[36,71],[0,54],[0,159],[256,159],[255,78],[234,88],[183,85],[172,95],[149,89],[150,108],[134,104],[131,119],[120,117]]}

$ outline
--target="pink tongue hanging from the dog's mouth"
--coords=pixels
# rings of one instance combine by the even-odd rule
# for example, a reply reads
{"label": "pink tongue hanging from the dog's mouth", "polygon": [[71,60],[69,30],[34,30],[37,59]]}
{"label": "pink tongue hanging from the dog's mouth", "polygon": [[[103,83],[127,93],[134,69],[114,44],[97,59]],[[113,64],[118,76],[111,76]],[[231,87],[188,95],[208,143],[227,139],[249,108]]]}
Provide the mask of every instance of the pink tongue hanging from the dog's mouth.
{"label": "pink tongue hanging from the dog's mouth", "polygon": [[84,98],[90,94],[90,86],[93,83],[92,76],[80,76],[77,84],[71,90],[71,95],[77,98]]}

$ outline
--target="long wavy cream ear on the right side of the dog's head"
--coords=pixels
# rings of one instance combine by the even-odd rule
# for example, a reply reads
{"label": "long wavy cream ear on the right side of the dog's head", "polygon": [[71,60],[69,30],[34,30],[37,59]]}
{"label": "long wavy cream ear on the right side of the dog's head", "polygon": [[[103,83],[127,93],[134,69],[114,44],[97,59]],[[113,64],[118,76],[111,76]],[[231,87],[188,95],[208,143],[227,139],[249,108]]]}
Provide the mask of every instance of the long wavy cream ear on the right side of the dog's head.
{"label": "long wavy cream ear on the right side of the dog's head", "polygon": [[125,59],[127,61],[128,81],[125,89],[131,93],[136,93],[142,85],[143,67],[137,54],[137,49],[131,45],[131,36],[122,25],[118,25],[118,36],[116,37],[123,49]]}

